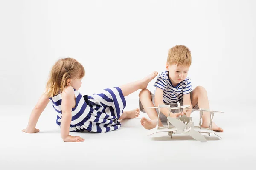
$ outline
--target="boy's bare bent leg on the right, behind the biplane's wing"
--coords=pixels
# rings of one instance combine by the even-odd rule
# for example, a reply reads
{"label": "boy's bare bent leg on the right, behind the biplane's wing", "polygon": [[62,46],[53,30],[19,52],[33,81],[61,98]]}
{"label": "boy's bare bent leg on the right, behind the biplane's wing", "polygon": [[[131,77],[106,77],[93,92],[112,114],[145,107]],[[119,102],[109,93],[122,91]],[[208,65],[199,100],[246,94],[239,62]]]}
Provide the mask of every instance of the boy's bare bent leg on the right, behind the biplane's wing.
{"label": "boy's bare bent leg on the right, behind the biplane's wing", "polygon": [[[197,86],[193,90],[191,98],[192,98],[191,102],[192,102],[193,107],[195,107],[195,105],[198,103],[199,108],[202,108],[202,109],[210,108],[207,91],[202,86]],[[203,119],[202,127],[209,128],[210,113],[204,112],[202,119]],[[212,130],[223,132],[223,129],[218,127],[214,122],[212,122]]]}

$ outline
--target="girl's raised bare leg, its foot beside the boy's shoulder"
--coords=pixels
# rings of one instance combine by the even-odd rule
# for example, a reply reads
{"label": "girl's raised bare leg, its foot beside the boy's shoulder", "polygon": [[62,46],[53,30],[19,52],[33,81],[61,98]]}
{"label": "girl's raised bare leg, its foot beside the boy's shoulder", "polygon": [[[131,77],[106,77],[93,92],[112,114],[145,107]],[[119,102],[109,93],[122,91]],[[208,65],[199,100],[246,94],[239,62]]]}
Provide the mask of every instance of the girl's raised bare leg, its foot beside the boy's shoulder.
{"label": "girl's raised bare leg, its foot beside the boy's shoulder", "polygon": [[125,85],[121,85],[119,86],[119,88],[121,88],[122,93],[124,96],[128,96],[129,94],[133,93],[134,91],[137,91],[139,89],[144,89],[147,88],[148,83],[154,79],[157,76],[157,71],[149,74],[148,76],[146,76],[144,79],[135,81],[135,82],[129,82]]}

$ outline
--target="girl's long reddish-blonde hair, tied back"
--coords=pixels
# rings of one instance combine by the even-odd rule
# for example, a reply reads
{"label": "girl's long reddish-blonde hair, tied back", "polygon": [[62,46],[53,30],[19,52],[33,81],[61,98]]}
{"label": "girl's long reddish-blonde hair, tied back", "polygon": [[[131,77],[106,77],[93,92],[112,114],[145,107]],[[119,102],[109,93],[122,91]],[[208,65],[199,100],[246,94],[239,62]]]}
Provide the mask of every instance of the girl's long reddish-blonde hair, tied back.
{"label": "girl's long reddish-blonde hair, tied back", "polygon": [[85,75],[84,67],[76,59],[59,59],[52,67],[46,84],[46,94],[53,97],[67,86],[67,79],[81,79]]}

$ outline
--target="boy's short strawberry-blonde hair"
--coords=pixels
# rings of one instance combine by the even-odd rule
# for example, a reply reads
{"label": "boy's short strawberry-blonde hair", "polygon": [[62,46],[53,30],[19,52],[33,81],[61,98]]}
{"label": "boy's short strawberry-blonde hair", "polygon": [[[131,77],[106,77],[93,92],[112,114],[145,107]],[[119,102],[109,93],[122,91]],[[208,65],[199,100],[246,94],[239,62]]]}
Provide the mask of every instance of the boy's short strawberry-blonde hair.
{"label": "boy's short strawberry-blonde hair", "polygon": [[191,53],[184,45],[176,45],[168,51],[168,64],[191,65]]}

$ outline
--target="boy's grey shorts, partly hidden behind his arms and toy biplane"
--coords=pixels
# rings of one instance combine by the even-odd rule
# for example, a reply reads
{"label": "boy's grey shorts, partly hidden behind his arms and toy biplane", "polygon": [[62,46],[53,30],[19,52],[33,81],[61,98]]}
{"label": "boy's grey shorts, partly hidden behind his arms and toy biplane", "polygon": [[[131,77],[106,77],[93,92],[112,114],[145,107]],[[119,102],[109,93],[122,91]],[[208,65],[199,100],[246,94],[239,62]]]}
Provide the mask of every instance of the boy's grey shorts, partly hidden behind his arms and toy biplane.
{"label": "boy's grey shorts, partly hidden behind his arms and toy biplane", "polygon": [[[192,93],[193,93],[193,91],[190,92],[190,101],[191,101],[191,105],[192,105],[192,107],[193,107],[193,104],[192,104]],[[153,102],[154,106],[156,106],[156,105],[155,105],[155,102],[154,102],[154,97],[155,97],[155,95],[152,94],[151,92],[150,92],[150,94],[151,94],[151,101]],[[177,107],[177,106],[178,106],[177,103],[170,103],[170,104],[166,104],[166,105],[170,105],[171,107]],[[180,105],[181,105],[181,106],[183,105],[183,99],[180,101]],[[143,105],[142,105],[141,102],[140,102],[140,99],[139,99],[139,107],[140,107],[140,111],[141,111],[141,112],[146,113],[146,112],[145,112],[145,109],[143,108]],[[155,108],[155,109],[156,109],[156,111],[157,111],[157,113],[158,113],[158,108]],[[199,109],[199,108],[198,108],[198,103],[193,107],[193,109]],[[172,109],[171,112],[172,112],[172,113],[178,113],[178,112],[179,112],[179,109]],[[192,112],[193,112],[193,111],[191,111],[191,113],[192,113]],[[161,120],[161,122],[167,122],[167,117],[166,117],[163,113],[161,113],[161,111],[160,111],[159,119]]]}

